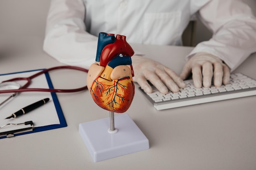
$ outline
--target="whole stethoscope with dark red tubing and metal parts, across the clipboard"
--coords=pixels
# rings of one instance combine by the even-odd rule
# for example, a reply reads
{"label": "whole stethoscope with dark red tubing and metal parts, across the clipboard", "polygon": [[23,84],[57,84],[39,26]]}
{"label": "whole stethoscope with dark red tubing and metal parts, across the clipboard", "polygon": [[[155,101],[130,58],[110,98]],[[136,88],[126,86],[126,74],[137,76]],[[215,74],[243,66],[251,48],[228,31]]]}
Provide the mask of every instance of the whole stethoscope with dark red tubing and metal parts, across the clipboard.
{"label": "whole stethoscope with dark red tubing and metal parts, across the clipboard", "polygon": [[[78,91],[83,91],[83,90],[87,89],[87,86],[83,86],[81,88],[73,88],[73,89],[27,88],[29,86],[29,84],[31,84],[31,79],[33,79],[43,73],[46,73],[46,72],[49,72],[52,70],[62,69],[62,68],[74,69],[74,70],[79,70],[79,71],[88,73],[87,69],[77,67],[77,66],[56,66],[56,67],[44,69],[44,70],[42,70],[34,75],[31,75],[29,77],[16,77],[16,78],[5,80],[2,83],[0,83],[0,93],[13,93],[13,94],[10,95],[7,99],[5,99],[2,103],[0,103],[0,106],[2,104],[4,104],[5,102],[7,102],[12,97],[15,97],[17,95],[17,93],[20,93],[20,92],[40,91],[40,92],[54,92],[54,93],[72,93],[72,92],[78,92]],[[25,83],[23,86],[21,86],[20,84],[15,82],[18,80],[26,80],[27,83]]]}

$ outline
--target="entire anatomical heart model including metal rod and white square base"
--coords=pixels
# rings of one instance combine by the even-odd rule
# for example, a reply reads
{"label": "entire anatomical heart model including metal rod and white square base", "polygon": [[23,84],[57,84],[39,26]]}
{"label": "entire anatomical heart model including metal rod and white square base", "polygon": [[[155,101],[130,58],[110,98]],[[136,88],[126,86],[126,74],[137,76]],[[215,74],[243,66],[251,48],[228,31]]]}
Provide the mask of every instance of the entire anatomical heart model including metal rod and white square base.
{"label": "entire anatomical heart model including metal rod and white square base", "polygon": [[133,54],[126,36],[99,33],[96,61],[89,68],[87,86],[94,102],[109,111],[110,124],[108,118],[79,124],[79,133],[94,162],[149,148],[148,139],[128,114],[114,116],[126,112],[134,97]]}

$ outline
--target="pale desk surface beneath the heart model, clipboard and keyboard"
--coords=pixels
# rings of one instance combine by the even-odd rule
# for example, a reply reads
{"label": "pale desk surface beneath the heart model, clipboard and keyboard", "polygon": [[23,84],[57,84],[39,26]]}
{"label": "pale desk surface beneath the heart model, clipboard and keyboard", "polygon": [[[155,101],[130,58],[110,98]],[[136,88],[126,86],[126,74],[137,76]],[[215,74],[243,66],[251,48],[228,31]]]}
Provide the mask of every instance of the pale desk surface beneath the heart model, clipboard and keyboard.
{"label": "pale desk surface beneath the heart model, clipboard and keyboard", "polygon": [[[2,39],[0,73],[63,65],[44,53],[42,46],[42,37]],[[132,46],[148,57],[158,56],[160,62],[177,73],[182,69],[184,56],[192,50],[177,46]],[[255,65],[254,53],[235,72],[256,79]],[[86,82],[85,73],[78,71],[54,71],[50,76],[56,88],[74,88]],[[149,139],[149,150],[94,163],[78,126],[108,117],[108,111],[94,104],[89,91],[58,93],[68,126],[0,139],[0,169],[256,169],[256,96],[157,111],[137,88],[136,85],[134,100],[126,113]]]}

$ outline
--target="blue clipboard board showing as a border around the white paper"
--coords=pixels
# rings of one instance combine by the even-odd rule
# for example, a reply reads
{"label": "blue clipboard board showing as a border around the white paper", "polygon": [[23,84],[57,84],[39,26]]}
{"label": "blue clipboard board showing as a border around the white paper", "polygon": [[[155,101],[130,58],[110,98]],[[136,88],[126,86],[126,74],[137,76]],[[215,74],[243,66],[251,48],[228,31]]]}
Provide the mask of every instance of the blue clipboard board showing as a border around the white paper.
{"label": "blue clipboard board showing as a border around the white paper", "polygon": [[[17,73],[26,73],[26,72],[32,72],[32,71],[41,71],[41,70],[43,70],[43,69],[37,69],[37,70],[31,70],[31,71],[22,71],[22,72],[16,72],[16,73],[0,74],[0,76],[17,74]],[[44,73],[44,74],[45,74],[45,77],[46,77],[47,84],[48,84],[49,88],[53,89],[54,87],[52,85],[52,81],[51,81],[51,78],[49,76],[49,73]],[[35,132],[41,132],[41,131],[45,131],[45,130],[52,130],[52,129],[56,129],[56,128],[63,128],[63,127],[67,126],[67,123],[66,123],[65,117],[63,115],[61,105],[58,102],[58,98],[57,98],[56,93],[52,93],[52,92],[47,92],[47,93],[51,93],[52,100],[54,102],[54,106],[56,108],[56,113],[58,115],[58,119],[59,119],[60,124],[52,124],[52,125],[47,125],[47,126],[34,127],[33,130],[31,130],[29,132],[20,132],[20,133],[15,134],[14,136],[25,135],[25,134],[29,134],[29,133],[35,133]],[[0,125],[0,126],[2,126],[2,125]],[[0,139],[3,139],[3,138],[7,138],[7,136],[0,137]]]}

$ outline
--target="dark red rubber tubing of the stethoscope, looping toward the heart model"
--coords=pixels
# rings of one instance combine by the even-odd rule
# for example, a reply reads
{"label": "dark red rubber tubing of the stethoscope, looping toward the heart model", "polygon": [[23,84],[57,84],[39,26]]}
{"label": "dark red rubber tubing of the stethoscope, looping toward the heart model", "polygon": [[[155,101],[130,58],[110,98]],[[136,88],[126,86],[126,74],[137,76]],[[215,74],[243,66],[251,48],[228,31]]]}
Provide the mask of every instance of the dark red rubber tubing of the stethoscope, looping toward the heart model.
{"label": "dark red rubber tubing of the stethoscope, looping toward the heart model", "polygon": [[74,69],[74,70],[80,70],[83,71],[85,73],[88,73],[88,70],[82,67],[77,67],[77,66],[56,66],[56,67],[52,67],[52,68],[48,68],[45,69],[43,71],[40,71],[34,75],[31,75],[29,77],[16,77],[13,79],[9,79],[9,80],[5,80],[3,82],[12,82],[12,81],[16,81],[16,80],[27,80],[27,83],[20,87],[19,89],[12,89],[12,90],[3,90],[0,91],[0,93],[18,93],[18,92],[29,92],[29,91],[39,91],[39,92],[54,92],[54,93],[73,93],[73,92],[78,92],[78,91],[83,91],[87,89],[87,86],[83,86],[81,88],[73,88],[73,89],[54,89],[54,88],[26,88],[27,86],[29,86],[29,84],[31,83],[31,79],[33,79],[34,77],[37,77],[38,75],[41,75],[43,73],[52,71],[52,70],[56,70],[56,69],[61,69],[61,68],[67,68],[67,69]]}

